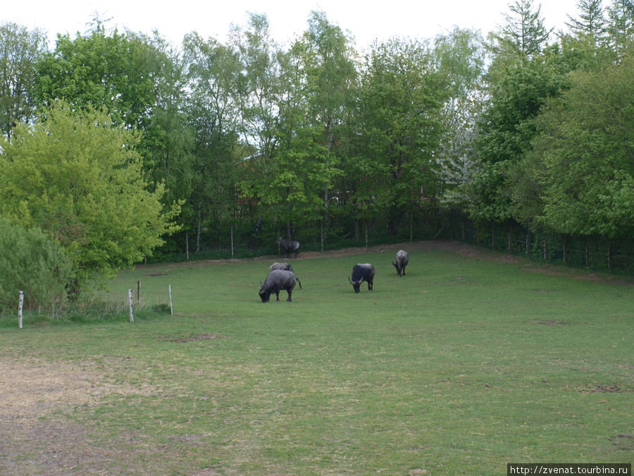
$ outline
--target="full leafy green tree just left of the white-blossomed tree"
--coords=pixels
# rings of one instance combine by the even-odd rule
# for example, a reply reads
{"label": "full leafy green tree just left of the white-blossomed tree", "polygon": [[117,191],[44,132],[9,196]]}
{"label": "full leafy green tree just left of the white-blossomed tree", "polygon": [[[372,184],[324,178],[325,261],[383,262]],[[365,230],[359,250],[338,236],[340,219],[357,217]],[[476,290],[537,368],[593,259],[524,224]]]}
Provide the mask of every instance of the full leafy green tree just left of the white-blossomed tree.
{"label": "full leafy green tree just left of the white-blossomed tree", "polygon": [[437,199],[442,82],[425,45],[397,39],[375,44],[362,71],[355,200],[365,219],[389,209],[397,233],[404,214]]}

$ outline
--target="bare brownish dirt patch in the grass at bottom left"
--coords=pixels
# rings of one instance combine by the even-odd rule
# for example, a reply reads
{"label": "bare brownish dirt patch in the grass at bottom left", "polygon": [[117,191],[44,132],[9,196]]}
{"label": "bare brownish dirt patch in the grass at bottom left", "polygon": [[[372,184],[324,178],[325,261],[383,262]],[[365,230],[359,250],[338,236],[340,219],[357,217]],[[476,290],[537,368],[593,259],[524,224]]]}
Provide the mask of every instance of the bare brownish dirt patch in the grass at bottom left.
{"label": "bare brownish dirt patch in the grass at bottom left", "polygon": [[151,393],[104,382],[92,365],[0,360],[0,473],[121,473],[130,468],[123,442],[99,441],[94,428],[64,414],[111,393]]}

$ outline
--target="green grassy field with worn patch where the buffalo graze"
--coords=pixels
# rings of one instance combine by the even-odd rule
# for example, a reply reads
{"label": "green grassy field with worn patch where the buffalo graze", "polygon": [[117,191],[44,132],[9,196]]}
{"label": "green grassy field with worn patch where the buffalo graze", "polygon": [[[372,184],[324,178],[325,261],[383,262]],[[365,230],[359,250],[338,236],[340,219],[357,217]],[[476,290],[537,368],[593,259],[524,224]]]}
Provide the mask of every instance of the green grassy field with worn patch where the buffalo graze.
{"label": "green grassy field with worn patch where the buffalo graze", "polygon": [[[135,323],[0,327],[3,474],[506,474],[631,463],[634,287],[466,245],[138,267]],[[357,262],[376,267],[355,294]],[[168,285],[175,316],[165,309]],[[123,306],[122,306],[123,307]],[[17,319],[15,319],[17,321]]]}

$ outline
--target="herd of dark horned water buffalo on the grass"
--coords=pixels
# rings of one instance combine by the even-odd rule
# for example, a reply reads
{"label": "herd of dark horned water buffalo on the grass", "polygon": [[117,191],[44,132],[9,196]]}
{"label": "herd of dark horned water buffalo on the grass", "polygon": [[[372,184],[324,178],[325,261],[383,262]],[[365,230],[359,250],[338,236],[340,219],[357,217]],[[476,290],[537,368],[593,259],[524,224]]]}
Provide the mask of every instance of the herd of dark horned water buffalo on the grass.
{"label": "herd of dark horned water buffalo on the grass", "polygon": [[[299,241],[283,240],[278,238],[277,241],[280,248],[285,251],[286,257],[290,258],[290,253],[295,252],[297,258],[297,250],[299,249]],[[396,255],[396,262],[392,261],[392,264],[397,269],[399,276],[405,276],[405,267],[409,262],[409,255],[406,251],[399,250]],[[372,291],[374,284],[375,269],[370,263],[357,263],[352,267],[352,276],[348,278],[350,284],[354,288],[355,293],[359,293],[361,283],[366,281],[368,283],[368,291]],[[264,283],[260,281],[260,298],[263,303],[268,303],[271,299],[271,294],[275,294],[276,300],[280,300],[280,291],[284,290],[288,293],[287,301],[290,302],[291,295],[295,284],[299,283],[299,288],[302,289],[302,283],[299,278],[295,276],[295,272],[290,264],[286,262],[273,263],[268,268],[268,276],[264,280]]]}

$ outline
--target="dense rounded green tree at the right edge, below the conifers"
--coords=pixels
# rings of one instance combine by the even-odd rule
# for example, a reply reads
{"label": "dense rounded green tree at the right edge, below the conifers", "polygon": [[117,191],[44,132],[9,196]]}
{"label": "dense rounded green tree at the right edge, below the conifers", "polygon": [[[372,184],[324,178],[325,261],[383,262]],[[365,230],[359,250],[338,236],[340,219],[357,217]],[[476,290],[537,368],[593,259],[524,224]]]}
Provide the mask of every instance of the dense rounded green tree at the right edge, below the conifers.
{"label": "dense rounded green tree at the right edge, below the conifers", "polygon": [[542,220],[561,233],[634,233],[634,55],[602,71],[579,71],[539,118]]}

